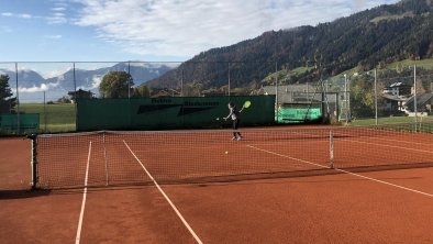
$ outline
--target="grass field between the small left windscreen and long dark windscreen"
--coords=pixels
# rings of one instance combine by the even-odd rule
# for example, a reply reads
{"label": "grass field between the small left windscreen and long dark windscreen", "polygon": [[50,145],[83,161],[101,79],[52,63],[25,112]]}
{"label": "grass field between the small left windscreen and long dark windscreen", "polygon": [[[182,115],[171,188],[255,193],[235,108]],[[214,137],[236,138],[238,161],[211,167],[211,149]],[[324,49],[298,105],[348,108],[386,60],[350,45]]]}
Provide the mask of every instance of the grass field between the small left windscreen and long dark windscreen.
{"label": "grass field between the small left windscreen and long dark windscreen", "polygon": [[76,107],[71,103],[21,103],[20,112],[38,113],[41,132],[71,132],[76,130]]}

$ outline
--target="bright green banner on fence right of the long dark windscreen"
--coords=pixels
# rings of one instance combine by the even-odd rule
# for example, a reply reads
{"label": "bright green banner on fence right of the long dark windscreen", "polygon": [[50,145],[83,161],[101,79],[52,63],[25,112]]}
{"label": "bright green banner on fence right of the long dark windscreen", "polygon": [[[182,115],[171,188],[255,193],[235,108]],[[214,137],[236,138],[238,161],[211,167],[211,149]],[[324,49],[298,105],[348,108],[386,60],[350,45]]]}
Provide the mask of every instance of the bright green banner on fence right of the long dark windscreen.
{"label": "bright green banner on fence right of the long dark windscreen", "polygon": [[319,120],[321,115],[320,108],[278,108],[275,121],[278,123],[300,123]]}

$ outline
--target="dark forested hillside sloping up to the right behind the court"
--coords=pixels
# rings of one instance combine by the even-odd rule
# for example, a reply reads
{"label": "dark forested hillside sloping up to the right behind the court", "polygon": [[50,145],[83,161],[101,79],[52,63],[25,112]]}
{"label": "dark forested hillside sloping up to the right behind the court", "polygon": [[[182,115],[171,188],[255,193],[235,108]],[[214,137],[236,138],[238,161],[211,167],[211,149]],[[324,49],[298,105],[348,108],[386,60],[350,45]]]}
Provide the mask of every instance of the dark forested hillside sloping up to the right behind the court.
{"label": "dark forested hillside sloping up to the right behind the court", "polygon": [[[278,69],[296,69],[291,81],[304,82],[352,68],[369,70],[396,60],[431,57],[433,1],[403,0],[331,23],[266,32],[232,46],[213,48],[146,85],[176,88],[182,79],[200,82],[204,89],[219,88],[227,82],[229,62],[231,79],[238,87],[247,87],[259,86],[275,71],[275,64]],[[321,74],[311,66],[319,66]]]}

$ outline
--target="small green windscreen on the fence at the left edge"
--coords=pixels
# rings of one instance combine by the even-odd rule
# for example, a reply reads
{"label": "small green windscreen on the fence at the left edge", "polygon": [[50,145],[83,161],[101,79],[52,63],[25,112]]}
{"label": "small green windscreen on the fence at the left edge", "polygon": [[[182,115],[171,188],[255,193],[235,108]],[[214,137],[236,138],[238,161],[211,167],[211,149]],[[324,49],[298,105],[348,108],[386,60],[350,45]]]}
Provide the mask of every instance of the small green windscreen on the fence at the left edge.
{"label": "small green windscreen on the fence at the left edge", "polygon": [[[20,121],[20,123],[18,122]],[[40,114],[0,114],[0,132],[33,133],[40,130]]]}

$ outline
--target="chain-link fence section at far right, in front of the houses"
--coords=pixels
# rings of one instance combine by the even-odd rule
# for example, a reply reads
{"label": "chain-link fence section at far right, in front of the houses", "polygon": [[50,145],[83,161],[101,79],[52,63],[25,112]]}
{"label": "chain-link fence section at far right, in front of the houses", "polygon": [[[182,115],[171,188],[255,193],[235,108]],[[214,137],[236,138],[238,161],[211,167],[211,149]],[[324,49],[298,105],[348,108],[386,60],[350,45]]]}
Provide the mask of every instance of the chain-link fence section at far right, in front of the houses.
{"label": "chain-link fence section at far right, in front of the houses", "polygon": [[341,115],[347,114],[347,120],[354,123],[371,124],[429,119],[433,103],[433,70],[415,63],[399,64],[345,75]]}

